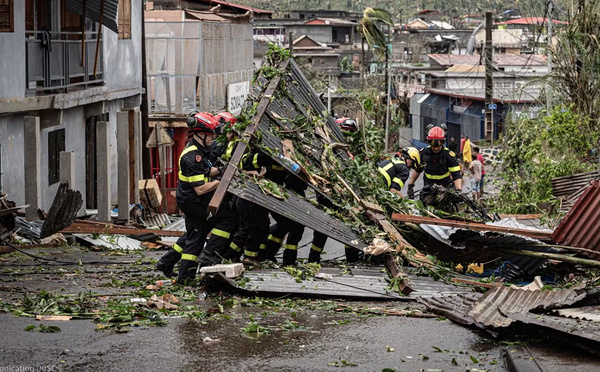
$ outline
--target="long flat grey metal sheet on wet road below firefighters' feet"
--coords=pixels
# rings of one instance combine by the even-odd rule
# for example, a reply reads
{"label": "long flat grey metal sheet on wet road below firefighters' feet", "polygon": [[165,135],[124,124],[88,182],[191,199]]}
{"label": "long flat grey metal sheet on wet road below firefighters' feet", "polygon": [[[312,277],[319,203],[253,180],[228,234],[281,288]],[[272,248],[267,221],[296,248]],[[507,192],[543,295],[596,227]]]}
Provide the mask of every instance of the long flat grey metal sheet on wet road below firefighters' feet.
{"label": "long flat grey metal sheet on wet road below firefighters' feet", "polygon": [[[470,289],[444,284],[429,277],[410,276],[414,291],[402,296],[388,288],[387,274],[382,267],[352,268],[352,274],[342,274],[339,268],[321,268],[316,278],[297,281],[281,270],[252,270],[244,272],[249,279],[241,287],[233,280],[227,282],[248,294],[295,294],[337,298],[369,298],[380,300],[415,301],[418,297],[431,298],[443,294],[466,293]],[[223,278],[221,278],[223,279]]]}

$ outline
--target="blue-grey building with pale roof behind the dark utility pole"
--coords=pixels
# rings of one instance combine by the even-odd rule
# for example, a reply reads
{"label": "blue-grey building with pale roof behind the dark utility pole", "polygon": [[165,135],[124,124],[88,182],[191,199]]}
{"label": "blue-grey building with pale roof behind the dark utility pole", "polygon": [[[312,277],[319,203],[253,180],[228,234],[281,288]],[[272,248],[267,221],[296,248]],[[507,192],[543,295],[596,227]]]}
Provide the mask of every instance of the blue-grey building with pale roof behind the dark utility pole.
{"label": "blue-grey building with pale roof behind the dark utility pole", "polygon": [[[430,123],[446,123],[448,138],[458,139],[465,133],[472,140],[483,139],[485,66],[480,56],[431,54],[429,61],[429,68],[418,72],[418,89],[410,99],[414,143],[424,145],[425,127]],[[508,113],[536,115],[548,67],[541,55],[495,54],[494,65],[497,136]]]}

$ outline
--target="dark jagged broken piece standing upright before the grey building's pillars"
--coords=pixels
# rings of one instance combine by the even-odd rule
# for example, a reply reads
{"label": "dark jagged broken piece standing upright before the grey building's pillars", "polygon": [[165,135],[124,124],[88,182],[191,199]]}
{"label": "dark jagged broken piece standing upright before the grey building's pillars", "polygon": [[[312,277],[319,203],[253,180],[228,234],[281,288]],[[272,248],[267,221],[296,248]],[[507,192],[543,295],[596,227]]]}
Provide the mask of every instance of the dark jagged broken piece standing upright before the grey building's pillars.
{"label": "dark jagged broken piece standing upright before the grey building's pillars", "polygon": [[61,183],[42,225],[40,238],[48,237],[71,225],[77,218],[77,213],[82,205],[81,193],[71,190],[68,183]]}

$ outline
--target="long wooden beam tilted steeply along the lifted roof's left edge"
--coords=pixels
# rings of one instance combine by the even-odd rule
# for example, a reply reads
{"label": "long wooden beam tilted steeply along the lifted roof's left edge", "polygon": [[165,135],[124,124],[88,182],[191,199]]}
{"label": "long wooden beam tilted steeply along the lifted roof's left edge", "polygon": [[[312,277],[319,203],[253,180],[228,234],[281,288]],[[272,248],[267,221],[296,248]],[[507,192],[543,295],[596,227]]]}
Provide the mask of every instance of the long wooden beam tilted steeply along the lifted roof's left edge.
{"label": "long wooden beam tilted steeply along the lifted roof's left edge", "polygon": [[[285,71],[289,62],[289,59],[283,61],[279,65],[279,69]],[[235,174],[237,172],[237,164],[239,164],[240,160],[242,160],[242,156],[246,152],[246,147],[248,146],[248,143],[250,142],[252,135],[256,130],[256,127],[258,127],[260,119],[262,119],[263,115],[265,114],[267,106],[269,106],[269,103],[271,102],[271,97],[273,96],[273,93],[275,93],[275,89],[277,89],[277,86],[279,86],[280,80],[281,75],[277,75],[269,82],[267,89],[265,90],[260,99],[258,108],[256,109],[256,114],[252,118],[252,122],[248,124],[246,130],[242,134],[242,141],[238,142],[237,146],[235,147],[233,155],[229,160],[229,164],[227,168],[225,168],[225,173],[223,173],[223,176],[221,177],[221,182],[219,183],[217,190],[215,191],[212,199],[210,200],[210,203],[208,204],[208,211],[212,215],[217,214],[217,211],[221,206],[221,202],[225,198],[225,194],[227,193],[229,184],[233,180],[233,177],[235,177]]]}

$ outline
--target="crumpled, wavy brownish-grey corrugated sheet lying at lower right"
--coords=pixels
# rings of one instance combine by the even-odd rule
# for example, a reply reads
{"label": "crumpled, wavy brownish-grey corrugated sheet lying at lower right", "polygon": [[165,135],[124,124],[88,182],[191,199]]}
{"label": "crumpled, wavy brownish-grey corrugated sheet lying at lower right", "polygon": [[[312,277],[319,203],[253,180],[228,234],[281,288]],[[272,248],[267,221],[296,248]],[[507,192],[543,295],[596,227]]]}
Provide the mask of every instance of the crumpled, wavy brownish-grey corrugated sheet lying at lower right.
{"label": "crumpled, wavy brownish-grey corrugated sheet lying at lower right", "polygon": [[467,315],[483,325],[507,327],[513,322],[510,314],[526,313],[538,308],[552,309],[583,299],[586,294],[582,288],[543,291],[498,285],[473,304]]}

